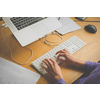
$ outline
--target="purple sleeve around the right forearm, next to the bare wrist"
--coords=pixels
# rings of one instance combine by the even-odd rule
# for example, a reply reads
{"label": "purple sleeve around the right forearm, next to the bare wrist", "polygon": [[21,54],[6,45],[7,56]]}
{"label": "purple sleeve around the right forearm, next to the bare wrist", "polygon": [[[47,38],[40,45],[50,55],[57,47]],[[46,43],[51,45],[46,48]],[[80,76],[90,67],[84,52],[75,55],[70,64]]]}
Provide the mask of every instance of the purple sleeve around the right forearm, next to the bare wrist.
{"label": "purple sleeve around the right forearm, next to the bare wrist", "polygon": [[85,69],[86,69],[88,72],[92,72],[99,64],[100,64],[100,63],[86,61],[86,62],[85,62]]}

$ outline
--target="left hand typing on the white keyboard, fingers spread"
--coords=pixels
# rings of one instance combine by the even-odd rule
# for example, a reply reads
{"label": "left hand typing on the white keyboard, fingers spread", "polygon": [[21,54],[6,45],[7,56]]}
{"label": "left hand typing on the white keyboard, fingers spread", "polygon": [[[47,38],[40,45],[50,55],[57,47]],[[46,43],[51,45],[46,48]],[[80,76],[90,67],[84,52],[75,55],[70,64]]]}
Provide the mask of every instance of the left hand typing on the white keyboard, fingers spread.
{"label": "left hand typing on the white keyboard, fingers spread", "polygon": [[42,65],[42,67],[49,73],[49,75],[55,80],[63,78],[60,66],[53,59],[44,59],[43,62],[48,66]]}

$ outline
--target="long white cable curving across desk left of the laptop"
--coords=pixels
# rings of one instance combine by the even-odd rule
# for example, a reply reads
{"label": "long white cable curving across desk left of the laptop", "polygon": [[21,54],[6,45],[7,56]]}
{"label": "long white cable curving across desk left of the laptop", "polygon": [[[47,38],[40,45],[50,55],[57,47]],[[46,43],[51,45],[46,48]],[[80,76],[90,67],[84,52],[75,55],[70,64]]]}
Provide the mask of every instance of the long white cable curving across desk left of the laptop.
{"label": "long white cable curving across desk left of the laptop", "polygon": [[7,47],[8,47],[9,50],[10,50],[11,59],[12,59],[14,62],[16,62],[16,63],[18,63],[18,64],[20,64],[20,65],[25,65],[25,64],[27,64],[27,63],[31,60],[31,58],[32,58],[32,56],[33,56],[33,51],[32,51],[32,49],[29,48],[29,47],[27,46],[27,48],[30,49],[30,51],[31,51],[31,56],[30,56],[29,60],[28,60],[26,63],[19,63],[19,62],[17,62],[17,61],[13,58],[12,51],[11,51],[9,45],[7,44],[6,39],[5,39],[4,35],[3,35],[3,29],[4,29],[4,28],[5,28],[5,27],[3,27],[3,28],[1,29],[1,34],[2,34],[2,36],[3,36],[3,38],[4,38],[4,41],[5,41],[6,45],[7,45]]}

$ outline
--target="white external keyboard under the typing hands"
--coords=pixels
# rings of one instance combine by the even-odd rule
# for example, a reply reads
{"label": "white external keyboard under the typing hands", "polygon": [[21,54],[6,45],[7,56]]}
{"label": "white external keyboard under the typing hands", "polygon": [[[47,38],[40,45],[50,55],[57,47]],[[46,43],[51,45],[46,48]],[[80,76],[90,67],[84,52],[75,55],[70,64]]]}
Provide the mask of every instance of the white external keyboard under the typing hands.
{"label": "white external keyboard under the typing hands", "polygon": [[[42,74],[45,75],[47,72],[46,70],[41,66],[43,64],[42,60],[47,58],[50,59],[52,58],[53,60],[56,61],[56,52],[60,51],[62,49],[68,50],[71,54],[74,54],[76,51],[81,49],[86,43],[84,43],[81,39],[79,39],[76,36],[71,37],[70,39],[66,40],[59,46],[55,47],[54,49],[50,50],[43,56],[39,57],[35,61],[32,62],[32,65]],[[59,62],[57,62],[59,64]]]}

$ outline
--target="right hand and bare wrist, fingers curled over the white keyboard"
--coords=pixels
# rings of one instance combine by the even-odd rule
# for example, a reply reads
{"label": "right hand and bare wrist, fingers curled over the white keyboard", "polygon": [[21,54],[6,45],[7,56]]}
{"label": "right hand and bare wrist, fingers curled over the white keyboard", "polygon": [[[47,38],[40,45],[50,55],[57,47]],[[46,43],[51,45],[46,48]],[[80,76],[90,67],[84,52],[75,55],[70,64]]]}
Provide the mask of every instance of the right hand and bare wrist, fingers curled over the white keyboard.
{"label": "right hand and bare wrist, fingers curled over the white keyboard", "polygon": [[64,57],[65,58],[64,62],[69,66],[85,67],[84,61],[76,59],[69,51],[65,49],[58,51],[56,55],[57,54],[58,54],[57,56],[58,61],[61,60],[60,57]]}

